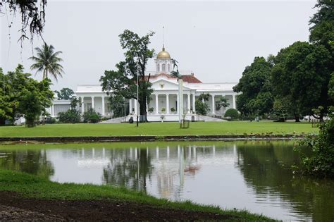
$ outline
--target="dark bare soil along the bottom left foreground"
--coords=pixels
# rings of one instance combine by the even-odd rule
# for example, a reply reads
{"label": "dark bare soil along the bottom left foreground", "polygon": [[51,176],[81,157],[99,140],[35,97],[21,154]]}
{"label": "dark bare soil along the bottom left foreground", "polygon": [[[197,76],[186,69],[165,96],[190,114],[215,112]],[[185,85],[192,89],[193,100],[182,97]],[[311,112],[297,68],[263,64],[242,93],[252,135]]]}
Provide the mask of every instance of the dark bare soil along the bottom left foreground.
{"label": "dark bare soil along the bottom left foreground", "polygon": [[0,221],[223,221],[236,216],[161,208],[135,202],[60,200],[0,192]]}

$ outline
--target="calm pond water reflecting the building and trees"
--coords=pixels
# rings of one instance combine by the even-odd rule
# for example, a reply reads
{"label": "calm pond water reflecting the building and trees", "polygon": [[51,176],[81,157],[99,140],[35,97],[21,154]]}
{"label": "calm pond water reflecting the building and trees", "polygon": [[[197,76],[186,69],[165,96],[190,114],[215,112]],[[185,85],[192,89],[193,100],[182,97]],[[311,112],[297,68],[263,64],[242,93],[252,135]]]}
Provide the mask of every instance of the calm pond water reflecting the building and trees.
{"label": "calm pond water reflecting the building and trees", "polygon": [[334,181],[295,176],[293,142],[0,146],[0,167],[60,183],[126,186],[288,221],[333,221]]}

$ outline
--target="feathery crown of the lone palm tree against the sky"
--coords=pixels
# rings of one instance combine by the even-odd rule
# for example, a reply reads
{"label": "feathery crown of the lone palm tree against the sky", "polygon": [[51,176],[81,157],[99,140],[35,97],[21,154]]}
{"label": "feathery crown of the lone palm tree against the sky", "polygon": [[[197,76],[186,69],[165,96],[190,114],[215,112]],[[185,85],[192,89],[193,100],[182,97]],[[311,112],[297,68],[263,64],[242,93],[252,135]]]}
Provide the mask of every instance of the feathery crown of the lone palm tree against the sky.
{"label": "feathery crown of the lone palm tree against the sky", "polygon": [[58,55],[61,51],[54,52],[54,47],[52,45],[47,45],[44,43],[42,49],[36,47],[37,56],[32,56],[29,59],[35,61],[35,64],[30,66],[30,69],[37,69],[36,73],[43,72],[43,79],[49,78],[49,73],[58,81],[57,77],[63,77],[63,66],[59,62],[63,61]]}

